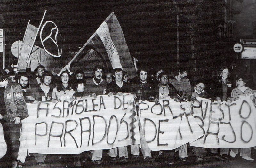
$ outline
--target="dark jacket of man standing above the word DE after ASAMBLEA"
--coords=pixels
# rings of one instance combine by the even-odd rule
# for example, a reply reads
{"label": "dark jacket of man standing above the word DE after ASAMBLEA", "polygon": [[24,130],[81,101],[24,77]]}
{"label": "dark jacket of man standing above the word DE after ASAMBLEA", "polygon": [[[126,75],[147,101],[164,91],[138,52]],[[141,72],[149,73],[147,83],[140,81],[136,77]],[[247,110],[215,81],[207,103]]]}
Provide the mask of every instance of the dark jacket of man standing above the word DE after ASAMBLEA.
{"label": "dark jacket of man standing above the word DE after ASAMBLEA", "polygon": [[119,87],[116,84],[116,80],[112,81],[111,83],[109,83],[107,85],[107,94],[109,92],[112,92],[113,94],[117,94],[118,92],[122,92],[122,93],[129,93],[130,89],[129,89],[129,84],[127,82],[123,82],[123,86]]}

